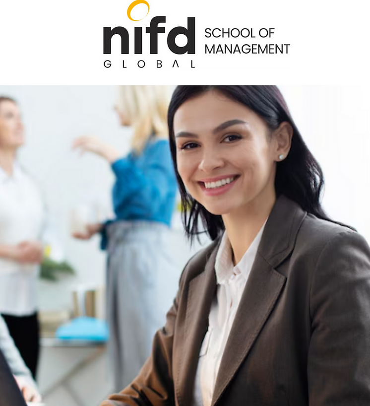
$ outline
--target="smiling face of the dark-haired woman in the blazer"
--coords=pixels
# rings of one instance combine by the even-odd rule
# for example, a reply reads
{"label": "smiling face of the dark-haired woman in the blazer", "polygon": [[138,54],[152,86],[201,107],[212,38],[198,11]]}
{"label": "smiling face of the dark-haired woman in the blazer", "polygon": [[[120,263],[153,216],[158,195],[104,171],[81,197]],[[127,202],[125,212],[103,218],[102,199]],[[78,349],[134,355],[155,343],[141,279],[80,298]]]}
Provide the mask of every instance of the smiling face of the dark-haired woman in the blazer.
{"label": "smiling face of the dark-haired woman in the blazer", "polygon": [[174,133],[179,174],[209,212],[238,213],[275,200],[281,142],[245,105],[208,91],[179,107]]}

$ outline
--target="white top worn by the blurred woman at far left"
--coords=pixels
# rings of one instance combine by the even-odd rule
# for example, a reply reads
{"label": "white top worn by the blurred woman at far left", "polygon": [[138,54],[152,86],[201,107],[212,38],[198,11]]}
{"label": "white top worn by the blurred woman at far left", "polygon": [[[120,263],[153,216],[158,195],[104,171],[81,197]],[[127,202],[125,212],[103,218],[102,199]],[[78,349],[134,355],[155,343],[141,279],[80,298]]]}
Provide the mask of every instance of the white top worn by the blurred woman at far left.
{"label": "white top worn by the blurred woman at far left", "polygon": [[[0,244],[40,241],[45,208],[36,183],[16,162],[9,176],[0,167]],[[34,313],[39,266],[0,258],[0,313]]]}

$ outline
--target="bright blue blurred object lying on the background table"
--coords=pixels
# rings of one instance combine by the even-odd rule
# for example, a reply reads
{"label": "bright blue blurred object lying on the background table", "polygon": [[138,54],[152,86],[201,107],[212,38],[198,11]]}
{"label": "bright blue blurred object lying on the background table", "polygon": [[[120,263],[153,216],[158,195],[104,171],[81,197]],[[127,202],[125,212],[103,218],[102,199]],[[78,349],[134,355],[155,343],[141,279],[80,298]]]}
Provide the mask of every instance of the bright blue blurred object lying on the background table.
{"label": "bright blue blurred object lying on the background table", "polygon": [[62,339],[107,341],[109,338],[108,325],[104,320],[94,317],[76,317],[69,323],[60,326],[55,336]]}

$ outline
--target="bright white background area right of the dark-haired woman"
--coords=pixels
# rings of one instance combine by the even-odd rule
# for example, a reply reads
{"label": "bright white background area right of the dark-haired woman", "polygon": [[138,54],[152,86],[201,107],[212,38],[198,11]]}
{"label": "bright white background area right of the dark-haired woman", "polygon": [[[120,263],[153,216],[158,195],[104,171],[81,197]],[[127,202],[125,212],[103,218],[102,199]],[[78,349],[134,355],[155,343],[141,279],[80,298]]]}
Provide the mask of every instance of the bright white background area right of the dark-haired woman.
{"label": "bright white background area right of the dark-haired woman", "polygon": [[329,216],[370,242],[370,85],[279,85],[325,179]]}

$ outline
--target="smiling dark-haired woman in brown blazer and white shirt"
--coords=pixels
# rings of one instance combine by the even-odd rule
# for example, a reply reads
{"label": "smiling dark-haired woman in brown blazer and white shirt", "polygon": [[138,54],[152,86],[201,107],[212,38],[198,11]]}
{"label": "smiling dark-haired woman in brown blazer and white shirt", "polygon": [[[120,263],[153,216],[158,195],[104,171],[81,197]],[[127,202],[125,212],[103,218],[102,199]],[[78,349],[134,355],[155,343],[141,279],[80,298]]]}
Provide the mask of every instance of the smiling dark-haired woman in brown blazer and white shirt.
{"label": "smiling dark-haired woman in brown blazer and white shirt", "polygon": [[323,211],[276,85],[180,84],[168,123],[185,231],[200,217],[214,241],[140,374],[102,406],[369,405],[370,247]]}

